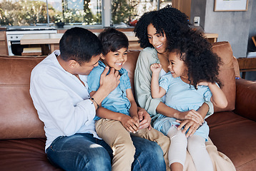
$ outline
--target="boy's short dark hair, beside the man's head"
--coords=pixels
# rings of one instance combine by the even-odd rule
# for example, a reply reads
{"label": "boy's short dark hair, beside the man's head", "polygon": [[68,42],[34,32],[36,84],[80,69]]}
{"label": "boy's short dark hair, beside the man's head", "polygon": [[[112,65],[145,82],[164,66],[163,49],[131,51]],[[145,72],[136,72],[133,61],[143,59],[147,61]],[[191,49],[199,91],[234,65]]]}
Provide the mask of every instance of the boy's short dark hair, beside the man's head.
{"label": "boy's short dark hair, beside the man's head", "polygon": [[128,48],[129,46],[127,36],[115,28],[106,28],[99,33],[98,38],[102,42],[102,54],[104,56],[110,51],[118,51],[120,48]]}

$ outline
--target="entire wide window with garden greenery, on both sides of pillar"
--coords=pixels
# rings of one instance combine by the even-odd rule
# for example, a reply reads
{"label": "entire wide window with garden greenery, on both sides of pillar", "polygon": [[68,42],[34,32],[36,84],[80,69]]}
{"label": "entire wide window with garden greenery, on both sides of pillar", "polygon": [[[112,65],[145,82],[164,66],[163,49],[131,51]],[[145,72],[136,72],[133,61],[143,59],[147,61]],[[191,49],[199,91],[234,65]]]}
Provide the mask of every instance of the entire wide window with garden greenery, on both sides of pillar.
{"label": "entire wide window with garden greenery, on both sides of pillar", "polygon": [[[172,0],[0,0],[1,26],[129,24]],[[110,5],[104,8],[103,5]],[[13,10],[15,9],[15,10]],[[104,10],[103,10],[104,9]],[[108,12],[109,10],[109,12]],[[104,18],[102,17],[104,16]]]}

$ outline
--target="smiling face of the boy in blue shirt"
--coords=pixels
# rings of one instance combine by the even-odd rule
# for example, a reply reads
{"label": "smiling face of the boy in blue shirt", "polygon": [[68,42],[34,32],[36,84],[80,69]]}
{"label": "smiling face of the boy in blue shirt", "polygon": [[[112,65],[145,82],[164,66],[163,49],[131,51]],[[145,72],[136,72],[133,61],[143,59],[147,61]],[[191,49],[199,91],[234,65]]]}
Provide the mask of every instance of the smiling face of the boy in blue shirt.
{"label": "smiling face of the boy in blue shirt", "polygon": [[107,55],[101,57],[106,66],[119,71],[127,61],[127,48],[120,48],[118,51],[109,51]]}

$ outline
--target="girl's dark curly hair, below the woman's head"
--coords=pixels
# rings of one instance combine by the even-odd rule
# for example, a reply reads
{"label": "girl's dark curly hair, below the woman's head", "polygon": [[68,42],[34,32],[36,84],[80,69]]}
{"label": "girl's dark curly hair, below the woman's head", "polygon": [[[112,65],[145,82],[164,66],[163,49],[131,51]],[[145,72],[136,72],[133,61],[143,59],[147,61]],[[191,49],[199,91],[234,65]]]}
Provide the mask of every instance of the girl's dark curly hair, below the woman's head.
{"label": "girl's dark curly hair, below the woman's head", "polygon": [[221,58],[212,52],[212,44],[202,33],[189,30],[175,43],[169,43],[167,51],[177,53],[177,56],[184,61],[189,82],[196,89],[197,84],[202,81],[216,82],[222,87],[218,78],[220,65],[222,65]]}

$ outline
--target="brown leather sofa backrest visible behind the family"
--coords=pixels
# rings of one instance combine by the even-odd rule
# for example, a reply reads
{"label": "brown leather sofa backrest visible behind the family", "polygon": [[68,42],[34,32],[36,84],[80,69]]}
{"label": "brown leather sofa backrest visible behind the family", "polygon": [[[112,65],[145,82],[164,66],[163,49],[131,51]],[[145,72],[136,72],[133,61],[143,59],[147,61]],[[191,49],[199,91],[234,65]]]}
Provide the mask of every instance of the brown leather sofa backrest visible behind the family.
{"label": "brown leather sofa backrest visible behind the family", "polygon": [[[230,43],[220,42],[213,50],[224,61],[220,79],[228,98],[225,110],[235,108],[235,73],[239,74],[237,60],[232,56]],[[134,90],[133,78],[139,51],[129,51],[124,68]],[[29,95],[30,74],[45,57],[0,56],[0,139],[45,138],[44,124],[39,120]],[[235,63],[235,71],[234,65]],[[238,75],[237,75],[238,76]],[[215,111],[220,111],[215,109]]]}

